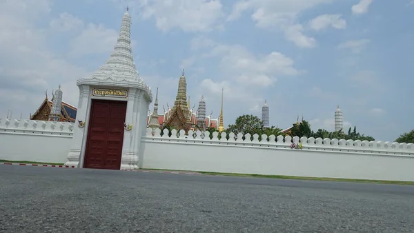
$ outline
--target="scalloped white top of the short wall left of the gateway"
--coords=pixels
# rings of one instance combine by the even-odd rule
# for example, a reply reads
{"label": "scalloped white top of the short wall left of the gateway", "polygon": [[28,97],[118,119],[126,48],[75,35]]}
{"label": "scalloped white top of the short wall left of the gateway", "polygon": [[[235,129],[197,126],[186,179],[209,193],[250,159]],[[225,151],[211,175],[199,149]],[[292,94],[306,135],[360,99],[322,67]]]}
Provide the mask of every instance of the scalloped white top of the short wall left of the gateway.
{"label": "scalloped white top of the short wall left of the gateway", "polygon": [[33,134],[34,132],[57,132],[69,135],[72,134],[73,125],[74,123],[60,121],[0,119],[0,133],[19,132]]}

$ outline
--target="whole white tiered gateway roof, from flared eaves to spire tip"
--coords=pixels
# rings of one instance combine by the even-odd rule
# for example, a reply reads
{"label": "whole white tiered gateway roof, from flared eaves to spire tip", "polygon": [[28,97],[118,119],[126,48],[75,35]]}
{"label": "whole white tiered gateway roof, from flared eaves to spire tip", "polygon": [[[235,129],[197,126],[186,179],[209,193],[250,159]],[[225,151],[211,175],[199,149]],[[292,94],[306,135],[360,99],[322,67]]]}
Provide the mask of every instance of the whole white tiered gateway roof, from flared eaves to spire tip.
{"label": "whole white tiered gateway roof, from flared eaves to spire tip", "polygon": [[117,44],[110,54],[110,58],[99,70],[90,77],[78,79],[77,85],[107,85],[119,87],[139,88],[146,92],[146,96],[152,101],[150,87],[139,77],[135,69],[130,39],[131,17],[128,10],[122,17],[121,30]]}

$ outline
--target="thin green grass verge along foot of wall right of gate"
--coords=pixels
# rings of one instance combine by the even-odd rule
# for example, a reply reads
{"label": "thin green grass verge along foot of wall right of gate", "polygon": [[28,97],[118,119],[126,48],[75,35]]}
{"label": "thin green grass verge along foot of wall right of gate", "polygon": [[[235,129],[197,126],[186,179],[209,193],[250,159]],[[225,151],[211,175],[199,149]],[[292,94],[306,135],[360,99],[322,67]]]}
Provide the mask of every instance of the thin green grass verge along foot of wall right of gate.
{"label": "thin green grass verge along foot of wall right of gate", "polygon": [[[143,168],[143,169],[144,170],[168,171],[165,169],[146,169],[146,168]],[[195,172],[195,171],[185,171],[185,170],[174,170],[174,171]],[[198,172],[198,173],[206,174],[210,176],[242,176],[242,177],[290,179],[290,180],[303,180],[303,181],[335,181],[335,182],[353,182],[353,183],[382,183],[382,184],[392,184],[392,185],[414,185],[414,181],[381,181],[381,180],[365,180],[365,179],[341,179],[341,178],[327,178],[327,177],[282,176],[282,175],[240,174],[240,173],[221,173],[221,172]]]}

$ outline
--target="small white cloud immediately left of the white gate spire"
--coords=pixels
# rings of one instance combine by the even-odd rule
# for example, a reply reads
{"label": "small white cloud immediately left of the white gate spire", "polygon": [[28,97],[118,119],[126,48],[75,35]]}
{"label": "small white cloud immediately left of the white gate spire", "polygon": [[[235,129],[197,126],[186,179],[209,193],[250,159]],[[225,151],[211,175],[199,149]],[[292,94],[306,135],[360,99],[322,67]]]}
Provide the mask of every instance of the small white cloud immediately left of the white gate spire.
{"label": "small white cloud immediately left of the white gate spire", "polygon": [[117,43],[118,34],[114,29],[89,23],[81,34],[72,39],[72,54],[108,54]]}

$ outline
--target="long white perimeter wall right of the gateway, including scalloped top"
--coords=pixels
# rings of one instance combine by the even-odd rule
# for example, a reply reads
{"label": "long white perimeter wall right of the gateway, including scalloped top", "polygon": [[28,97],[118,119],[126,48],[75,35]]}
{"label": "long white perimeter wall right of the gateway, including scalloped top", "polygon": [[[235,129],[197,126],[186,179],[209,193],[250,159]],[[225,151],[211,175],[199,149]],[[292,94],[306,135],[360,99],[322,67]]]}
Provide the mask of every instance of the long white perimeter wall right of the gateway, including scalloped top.
{"label": "long white perimeter wall right of the gateway, including scalloped top", "polygon": [[414,181],[413,144],[302,138],[299,150],[290,149],[290,136],[286,142],[280,136],[253,142],[219,141],[217,134],[211,140],[157,133],[142,139],[142,168]]}

